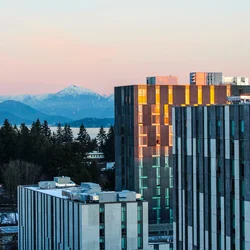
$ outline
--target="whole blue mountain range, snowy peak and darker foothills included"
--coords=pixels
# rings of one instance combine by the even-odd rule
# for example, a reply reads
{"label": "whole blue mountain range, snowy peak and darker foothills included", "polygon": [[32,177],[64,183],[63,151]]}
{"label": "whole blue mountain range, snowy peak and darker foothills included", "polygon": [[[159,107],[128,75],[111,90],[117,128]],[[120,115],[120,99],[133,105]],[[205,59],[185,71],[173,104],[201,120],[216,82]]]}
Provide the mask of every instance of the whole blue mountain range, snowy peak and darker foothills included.
{"label": "whole blue mountain range, snowy peak and darker foothills included", "polygon": [[31,124],[39,118],[50,124],[87,117],[113,118],[114,95],[102,96],[71,85],[55,94],[0,96],[0,121]]}

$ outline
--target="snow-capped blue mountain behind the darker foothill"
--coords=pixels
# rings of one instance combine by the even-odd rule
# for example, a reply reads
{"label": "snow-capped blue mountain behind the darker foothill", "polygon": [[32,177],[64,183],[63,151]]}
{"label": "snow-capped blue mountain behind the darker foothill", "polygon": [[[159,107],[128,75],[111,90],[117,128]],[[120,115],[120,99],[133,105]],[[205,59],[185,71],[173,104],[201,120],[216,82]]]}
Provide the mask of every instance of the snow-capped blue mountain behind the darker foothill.
{"label": "snow-capped blue mountain behind the darker foothill", "polygon": [[47,115],[63,116],[72,120],[114,117],[114,95],[102,96],[76,85],[54,94],[0,96],[0,102],[6,100],[19,101]]}

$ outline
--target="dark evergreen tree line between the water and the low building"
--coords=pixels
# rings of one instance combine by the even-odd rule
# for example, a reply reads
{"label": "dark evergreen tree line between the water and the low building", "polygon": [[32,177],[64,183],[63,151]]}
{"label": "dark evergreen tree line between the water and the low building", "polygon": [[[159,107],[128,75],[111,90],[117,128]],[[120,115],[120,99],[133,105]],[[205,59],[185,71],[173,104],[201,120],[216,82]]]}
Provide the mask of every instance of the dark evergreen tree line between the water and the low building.
{"label": "dark evergreen tree line between the water and the low building", "polygon": [[5,120],[0,128],[0,183],[4,183],[12,199],[16,198],[16,185],[34,184],[54,176],[70,176],[78,184],[92,181],[104,189],[113,189],[114,171],[103,176],[96,162],[86,160],[93,150],[103,152],[105,161],[114,162],[113,126],[107,133],[101,127],[92,139],[82,124],[77,138],[73,138],[68,124],[59,123],[52,133],[47,121],[37,120],[30,128],[25,124],[18,128]]}

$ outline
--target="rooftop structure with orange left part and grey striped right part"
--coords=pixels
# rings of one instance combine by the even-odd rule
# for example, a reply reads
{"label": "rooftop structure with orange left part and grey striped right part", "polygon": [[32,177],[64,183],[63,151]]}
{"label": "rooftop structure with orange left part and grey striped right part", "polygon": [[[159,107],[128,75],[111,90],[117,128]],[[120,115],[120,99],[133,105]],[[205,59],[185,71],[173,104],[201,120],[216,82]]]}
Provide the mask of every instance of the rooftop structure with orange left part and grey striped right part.
{"label": "rooftop structure with orange left part and grey striped right part", "polygon": [[221,72],[192,72],[190,73],[191,85],[219,85],[223,83]]}

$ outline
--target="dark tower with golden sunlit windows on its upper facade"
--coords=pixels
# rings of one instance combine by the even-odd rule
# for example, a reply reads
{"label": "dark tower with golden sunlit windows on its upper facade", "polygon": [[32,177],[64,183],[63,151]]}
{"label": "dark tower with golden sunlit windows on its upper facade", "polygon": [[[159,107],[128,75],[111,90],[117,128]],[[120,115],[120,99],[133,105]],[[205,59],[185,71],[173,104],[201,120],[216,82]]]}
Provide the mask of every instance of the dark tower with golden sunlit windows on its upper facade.
{"label": "dark tower with golden sunlit windows on its upper facade", "polygon": [[172,234],[172,106],[224,104],[231,86],[132,85],[115,88],[116,190],[142,194],[150,235]]}

